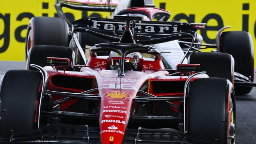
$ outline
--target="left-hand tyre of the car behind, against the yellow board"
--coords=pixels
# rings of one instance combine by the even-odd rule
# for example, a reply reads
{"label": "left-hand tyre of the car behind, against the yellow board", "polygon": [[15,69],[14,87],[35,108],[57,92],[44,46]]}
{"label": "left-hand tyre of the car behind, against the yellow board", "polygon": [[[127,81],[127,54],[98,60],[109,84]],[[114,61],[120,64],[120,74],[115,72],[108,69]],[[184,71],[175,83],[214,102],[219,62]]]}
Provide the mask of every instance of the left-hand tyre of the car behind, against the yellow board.
{"label": "left-hand tyre of the car behind, against the yellow board", "polygon": [[69,29],[66,20],[58,17],[32,17],[26,35],[26,60],[34,45],[69,46]]}

